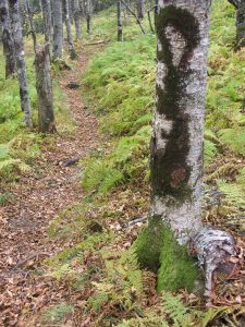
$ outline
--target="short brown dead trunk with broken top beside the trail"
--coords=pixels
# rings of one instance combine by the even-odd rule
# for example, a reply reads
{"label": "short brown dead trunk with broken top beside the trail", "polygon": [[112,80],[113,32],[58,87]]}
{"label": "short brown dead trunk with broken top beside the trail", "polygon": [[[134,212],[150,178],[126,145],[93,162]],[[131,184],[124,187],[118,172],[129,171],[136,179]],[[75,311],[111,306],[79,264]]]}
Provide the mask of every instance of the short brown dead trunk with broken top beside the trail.
{"label": "short brown dead trunk with broken top beside the trail", "polygon": [[49,44],[37,51],[35,58],[36,89],[38,95],[38,130],[41,133],[56,132],[52,77]]}

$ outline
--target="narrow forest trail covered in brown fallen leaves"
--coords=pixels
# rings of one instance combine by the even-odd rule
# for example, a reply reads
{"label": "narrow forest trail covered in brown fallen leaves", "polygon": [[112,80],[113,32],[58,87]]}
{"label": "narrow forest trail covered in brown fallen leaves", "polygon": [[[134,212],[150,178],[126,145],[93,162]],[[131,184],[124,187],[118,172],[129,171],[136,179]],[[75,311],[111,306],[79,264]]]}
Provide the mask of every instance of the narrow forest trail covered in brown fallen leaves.
{"label": "narrow forest trail covered in brown fallen leaves", "polygon": [[74,135],[60,135],[44,146],[35,171],[22,177],[10,192],[13,202],[0,208],[0,326],[26,326],[20,317],[38,311],[44,303],[61,296],[59,290],[32,274],[38,261],[59,251],[47,235],[50,221],[62,208],[79,202],[79,168],[64,167],[73,158],[84,158],[98,144],[97,120],[85,108],[81,89],[66,87],[78,81],[89,55],[72,71],[62,72],[61,88],[66,95]]}

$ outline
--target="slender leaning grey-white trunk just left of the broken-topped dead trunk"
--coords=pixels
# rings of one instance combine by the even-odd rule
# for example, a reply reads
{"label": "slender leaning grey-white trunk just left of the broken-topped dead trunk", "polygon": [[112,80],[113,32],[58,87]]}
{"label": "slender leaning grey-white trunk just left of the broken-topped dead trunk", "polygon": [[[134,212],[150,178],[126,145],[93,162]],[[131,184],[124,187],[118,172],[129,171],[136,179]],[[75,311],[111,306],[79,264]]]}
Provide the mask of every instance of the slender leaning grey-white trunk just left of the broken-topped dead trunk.
{"label": "slender leaning grey-white trunk just left of the broken-topped dead trunk", "polygon": [[9,0],[9,4],[10,4],[12,34],[14,39],[17,77],[20,84],[21,106],[25,114],[24,122],[32,128],[33,122],[32,122],[32,113],[30,113],[28,83],[26,76],[26,65],[25,65],[25,57],[24,57],[25,52],[24,52],[24,45],[22,38],[22,25],[21,25],[21,16],[20,16],[20,9],[19,9],[19,0]]}

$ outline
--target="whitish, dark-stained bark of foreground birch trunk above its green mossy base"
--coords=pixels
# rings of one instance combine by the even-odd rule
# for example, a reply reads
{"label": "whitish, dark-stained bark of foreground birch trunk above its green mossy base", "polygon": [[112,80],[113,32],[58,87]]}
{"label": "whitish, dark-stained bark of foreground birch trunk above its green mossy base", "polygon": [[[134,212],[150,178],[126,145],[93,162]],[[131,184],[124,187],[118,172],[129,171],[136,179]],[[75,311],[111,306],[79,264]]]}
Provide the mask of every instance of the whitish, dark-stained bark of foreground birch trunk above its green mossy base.
{"label": "whitish, dark-stained bark of foreground birch trunk above its green mossy base", "polygon": [[180,244],[201,228],[209,7],[210,0],[159,0],[152,215]]}

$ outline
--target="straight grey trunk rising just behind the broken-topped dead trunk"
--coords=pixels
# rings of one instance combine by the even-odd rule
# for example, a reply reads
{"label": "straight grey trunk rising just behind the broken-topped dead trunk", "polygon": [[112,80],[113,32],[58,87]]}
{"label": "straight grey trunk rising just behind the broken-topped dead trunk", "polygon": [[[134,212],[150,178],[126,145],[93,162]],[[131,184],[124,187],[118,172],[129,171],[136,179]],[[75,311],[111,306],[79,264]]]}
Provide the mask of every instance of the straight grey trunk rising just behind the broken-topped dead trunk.
{"label": "straight grey trunk rising just behind the broken-topped dead trunk", "polygon": [[53,0],[53,60],[61,59],[63,56],[63,17],[62,0]]}

